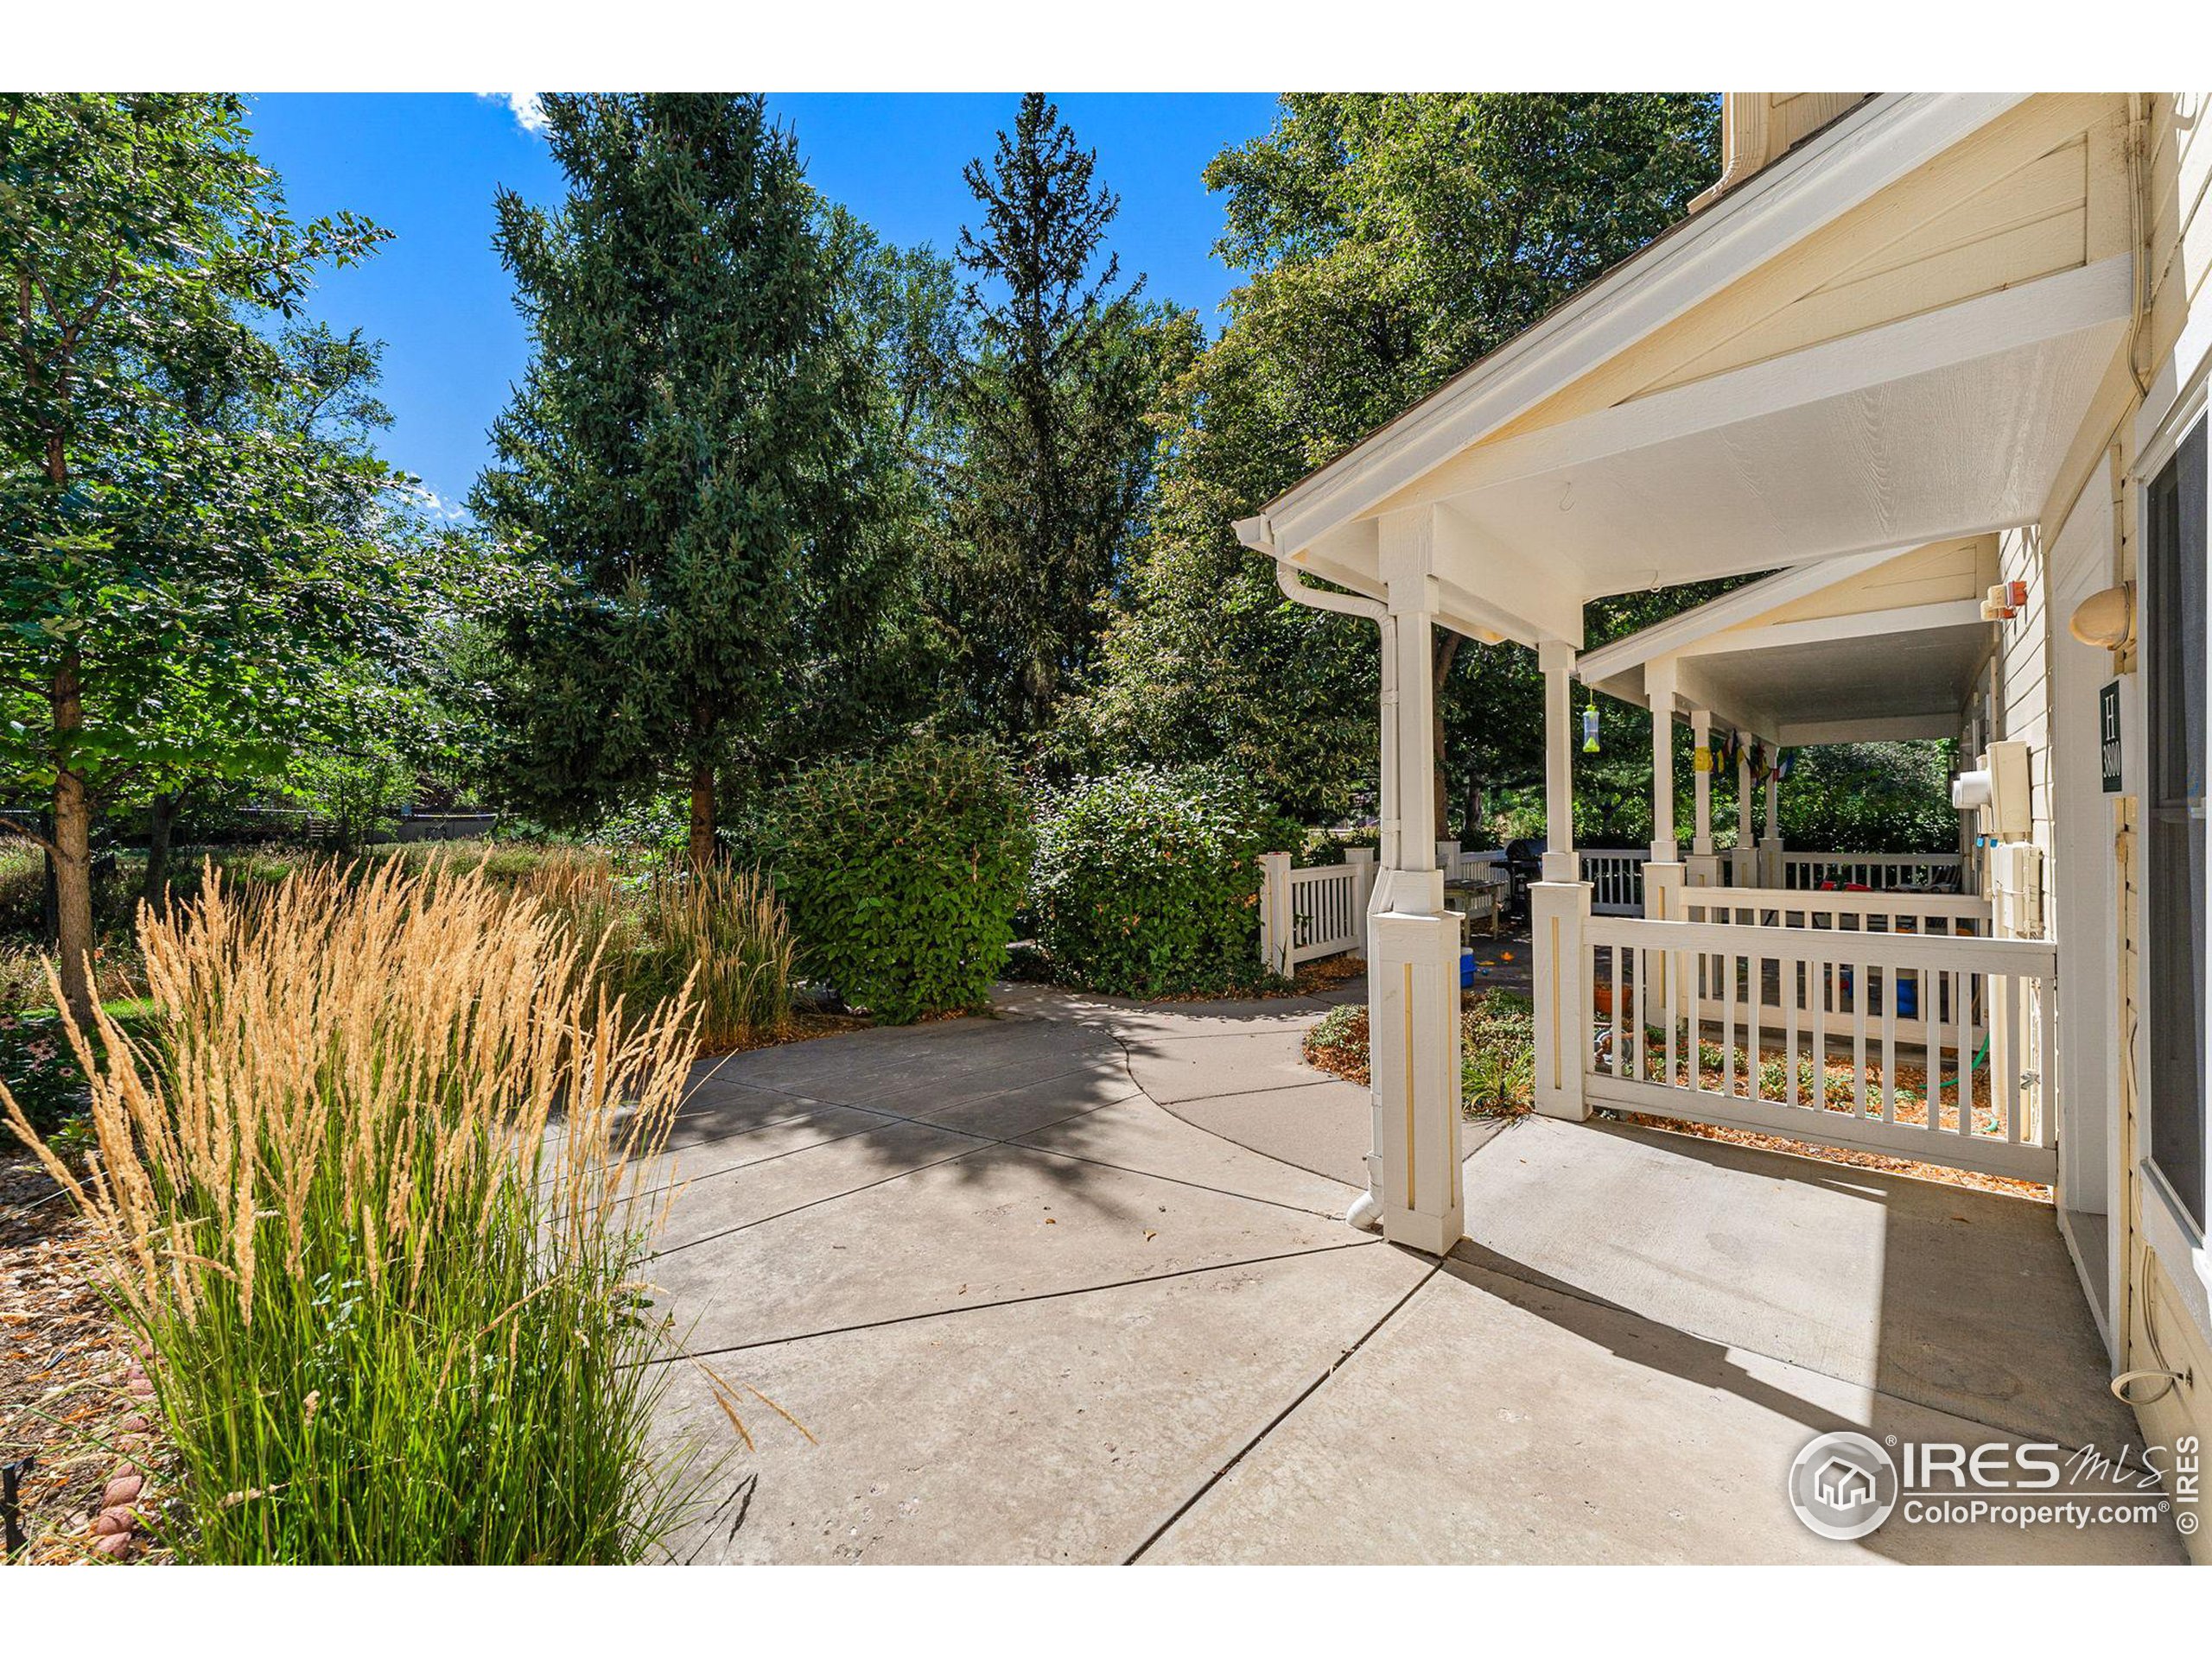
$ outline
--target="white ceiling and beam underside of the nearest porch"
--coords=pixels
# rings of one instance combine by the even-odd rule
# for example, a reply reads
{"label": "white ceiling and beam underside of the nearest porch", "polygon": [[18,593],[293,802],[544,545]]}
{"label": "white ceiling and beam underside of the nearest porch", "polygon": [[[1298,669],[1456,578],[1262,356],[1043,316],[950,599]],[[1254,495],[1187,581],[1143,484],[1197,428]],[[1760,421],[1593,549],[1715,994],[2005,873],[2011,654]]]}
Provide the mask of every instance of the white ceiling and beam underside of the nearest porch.
{"label": "white ceiling and beam underside of the nearest porch", "polygon": [[2130,281],[2088,265],[1478,444],[1276,553],[1380,595],[1380,520],[1427,508],[1449,626],[1579,643],[1579,604],[1610,592],[2028,524]]}

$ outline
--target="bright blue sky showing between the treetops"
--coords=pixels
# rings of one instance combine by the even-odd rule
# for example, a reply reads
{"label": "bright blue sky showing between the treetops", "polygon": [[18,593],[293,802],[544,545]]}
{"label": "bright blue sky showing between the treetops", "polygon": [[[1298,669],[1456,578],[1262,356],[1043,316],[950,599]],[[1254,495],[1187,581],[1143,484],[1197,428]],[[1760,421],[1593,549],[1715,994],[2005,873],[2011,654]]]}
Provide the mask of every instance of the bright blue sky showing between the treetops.
{"label": "bright blue sky showing between the treetops", "polygon": [[[1225,146],[1274,122],[1265,95],[1106,95],[1057,99],[1121,195],[1115,250],[1146,292],[1194,305],[1208,323],[1232,272],[1212,259],[1221,203],[1199,181]],[[807,177],[896,243],[951,252],[973,199],[962,164],[989,155],[1013,119],[1011,93],[803,93],[770,106],[799,133]],[[560,197],[542,139],[515,111],[467,93],[265,95],[252,106],[261,159],[292,210],[349,208],[392,241],[365,265],[323,279],[310,314],[385,340],[385,458],[445,502],[487,460],[484,431],[522,374],[529,340],[491,252],[491,195]]]}

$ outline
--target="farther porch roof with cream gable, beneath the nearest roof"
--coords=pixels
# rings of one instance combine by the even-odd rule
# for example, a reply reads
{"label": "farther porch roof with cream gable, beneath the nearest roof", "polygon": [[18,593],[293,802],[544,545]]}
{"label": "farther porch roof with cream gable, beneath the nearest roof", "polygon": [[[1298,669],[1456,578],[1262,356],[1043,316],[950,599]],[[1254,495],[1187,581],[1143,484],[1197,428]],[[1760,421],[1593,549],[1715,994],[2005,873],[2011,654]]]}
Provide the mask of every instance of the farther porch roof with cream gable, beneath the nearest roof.
{"label": "farther porch roof with cream gable, beneath the nearest roof", "polygon": [[[1993,535],[1783,570],[1586,652],[1586,685],[1639,707],[1708,707],[1770,743],[1878,743],[1958,732],[1995,623]],[[1666,701],[1666,696],[1661,696]]]}

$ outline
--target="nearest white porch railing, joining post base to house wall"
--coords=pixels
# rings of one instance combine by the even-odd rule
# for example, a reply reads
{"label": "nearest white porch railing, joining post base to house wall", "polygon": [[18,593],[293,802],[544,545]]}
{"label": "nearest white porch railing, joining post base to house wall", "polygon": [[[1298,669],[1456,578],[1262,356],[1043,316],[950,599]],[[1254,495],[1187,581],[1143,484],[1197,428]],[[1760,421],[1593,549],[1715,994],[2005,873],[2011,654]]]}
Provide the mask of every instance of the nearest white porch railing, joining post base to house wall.
{"label": "nearest white porch railing, joining post base to house wall", "polygon": [[2057,1176],[2051,944],[1599,917],[1582,940],[1595,1105]]}

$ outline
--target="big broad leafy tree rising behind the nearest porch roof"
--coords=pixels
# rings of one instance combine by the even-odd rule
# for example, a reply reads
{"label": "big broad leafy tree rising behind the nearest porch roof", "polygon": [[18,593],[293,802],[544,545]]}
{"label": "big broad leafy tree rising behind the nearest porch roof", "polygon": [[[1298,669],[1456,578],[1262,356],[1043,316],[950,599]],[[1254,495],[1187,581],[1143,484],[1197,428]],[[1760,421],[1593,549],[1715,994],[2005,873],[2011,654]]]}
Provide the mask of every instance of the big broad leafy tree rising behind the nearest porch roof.
{"label": "big broad leafy tree rising behind the nearest porch roof", "polygon": [[[1371,791],[1374,632],[1281,599],[1230,522],[1666,230],[1717,135],[1705,93],[1292,95],[1217,157],[1217,252],[1250,281],[1177,387],[1144,557],[1057,734],[1068,763],[1228,756],[1307,816]],[[1438,648],[1440,754],[1478,783],[1537,765],[1524,654]]]}

